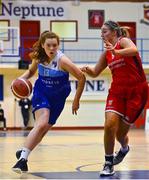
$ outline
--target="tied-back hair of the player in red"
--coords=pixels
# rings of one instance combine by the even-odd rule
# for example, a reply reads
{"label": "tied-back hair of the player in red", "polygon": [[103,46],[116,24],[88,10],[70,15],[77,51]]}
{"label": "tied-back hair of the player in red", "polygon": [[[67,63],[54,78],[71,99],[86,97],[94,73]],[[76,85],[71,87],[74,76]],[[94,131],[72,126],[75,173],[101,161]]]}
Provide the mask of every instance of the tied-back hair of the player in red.
{"label": "tied-back hair of the player in red", "polygon": [[118,37],[127,36],[126,31],[122,27],[120,27],[120,25],[115,21],[112,21],[112,20],[106,21],[104,22],[104,25],[108,26],[110,30],[116,31]]}

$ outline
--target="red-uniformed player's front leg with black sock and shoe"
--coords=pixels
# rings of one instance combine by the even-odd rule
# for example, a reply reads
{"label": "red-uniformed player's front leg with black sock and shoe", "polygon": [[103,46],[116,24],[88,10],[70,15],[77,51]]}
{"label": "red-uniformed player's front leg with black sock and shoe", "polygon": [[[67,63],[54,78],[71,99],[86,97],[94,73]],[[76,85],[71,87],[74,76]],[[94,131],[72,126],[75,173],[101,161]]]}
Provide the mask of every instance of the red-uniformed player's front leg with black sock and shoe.
{"label": "red-uniformed player's front leg with black sock and shoe", "polygon": [[118,128],[118,122],[121,116],[115,112],[106,112],[106,120],[104,125],[104,148],[105,148],[105,164],[100,172],[101,176],[111,176],[114,172],[113,167],[113,151],[115,145],[115,136]]}

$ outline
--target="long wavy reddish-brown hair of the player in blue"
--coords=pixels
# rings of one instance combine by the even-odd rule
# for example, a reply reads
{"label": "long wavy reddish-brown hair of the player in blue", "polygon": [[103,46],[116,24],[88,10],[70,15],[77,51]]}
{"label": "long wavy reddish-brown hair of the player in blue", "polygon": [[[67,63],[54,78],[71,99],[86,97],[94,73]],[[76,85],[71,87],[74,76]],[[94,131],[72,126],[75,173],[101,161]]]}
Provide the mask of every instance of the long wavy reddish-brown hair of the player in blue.
{"label": "long wavy reddish-brown hair of the player in blue", "polygon": [[48,56],[45,53],[45,50],[42,48],[42,45],[45,43],[46,39],[52,38],[56,38],[59,45],[60,40],[57,34],[50,31],[44,31],[43,33],[41,33],[39,40],[36,41],[33,45],[33,51],[29,54],[30,58],[37,60],[39,63],[43,63],[48,60]]}

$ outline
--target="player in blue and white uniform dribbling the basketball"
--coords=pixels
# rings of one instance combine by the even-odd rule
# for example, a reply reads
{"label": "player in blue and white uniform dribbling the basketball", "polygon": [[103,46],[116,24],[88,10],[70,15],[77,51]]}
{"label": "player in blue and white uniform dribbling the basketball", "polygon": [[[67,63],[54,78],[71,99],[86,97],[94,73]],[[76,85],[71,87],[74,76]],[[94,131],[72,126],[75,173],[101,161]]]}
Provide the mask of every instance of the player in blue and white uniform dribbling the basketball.
{"label": "player in blue and white uniform dribbling the basketball", "polygon": [[38,69],[32,98],[33,114],[36,119],[24,147],[16,152],[18,162],[12,170],[27,172],[27,159],[30,152],[39,144],[48,130],[61,114],[71,87],[69,73],[78,80],[76,94],[72,103],[72,113],[77,114],[82,95],[85,76],[71,60],[59,50],[59,37],[49,31],[41,34],[30,54],[32,64],[21,78],[31,78]]}

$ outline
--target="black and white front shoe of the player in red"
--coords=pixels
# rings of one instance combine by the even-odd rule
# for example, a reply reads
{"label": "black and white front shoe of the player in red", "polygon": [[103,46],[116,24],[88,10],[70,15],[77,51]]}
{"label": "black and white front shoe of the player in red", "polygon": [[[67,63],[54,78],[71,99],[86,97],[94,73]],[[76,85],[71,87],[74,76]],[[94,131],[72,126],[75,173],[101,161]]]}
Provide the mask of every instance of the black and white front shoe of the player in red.
{"label": "black and white front shoe of the player in red", "polygon": [[103,170],[100,172],[100,176],[112,176],[115,174],[114,166],[111,162],[106,161]]}

